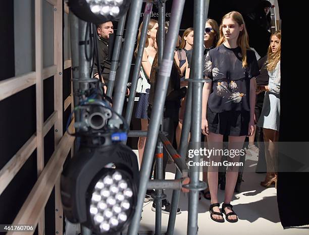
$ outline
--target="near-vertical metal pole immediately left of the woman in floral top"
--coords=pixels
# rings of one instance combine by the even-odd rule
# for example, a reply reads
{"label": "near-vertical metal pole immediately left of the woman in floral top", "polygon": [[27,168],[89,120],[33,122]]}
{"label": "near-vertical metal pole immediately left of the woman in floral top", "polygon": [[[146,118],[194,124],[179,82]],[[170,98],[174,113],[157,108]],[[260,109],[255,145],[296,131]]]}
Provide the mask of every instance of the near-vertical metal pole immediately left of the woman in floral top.
{"label": "near-vertical metal pole immediately left of the woman in floral top", "polygon": [[[205,28],[205,0],[194,1],[194,47],[192,68],[190,73],[193,73],[193,79],[195,81],[203,80],[203,36]],[[201,138],[201,104],[202,104],[202,82],[194,82],[192,84],[192,142],[200,142]],[[199,162],[200,156],[194,156],[193,161]],[[187,234],[197,234],[197,208],[198,208],[198,189],[199,188],[199,166],[190,166],[190,192],[189,192],[189,205],[188,205],[188,228]]]}

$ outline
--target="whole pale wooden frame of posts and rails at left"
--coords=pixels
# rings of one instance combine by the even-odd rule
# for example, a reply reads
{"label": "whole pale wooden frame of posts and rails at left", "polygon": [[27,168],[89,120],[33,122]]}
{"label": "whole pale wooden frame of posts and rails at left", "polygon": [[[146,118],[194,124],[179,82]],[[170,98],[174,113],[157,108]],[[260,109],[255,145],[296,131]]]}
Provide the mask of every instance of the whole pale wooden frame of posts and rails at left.
{"label": "whole pale wooden frame of posts and rails at left", "polygon": [[[60,175],[66,157],[73,150],[74,137],[63,135],[63,110],[73,104],[73,94],[63,104],[63,69],[72,66],[71,60],[63,63],[63,8],[69,8],[62,0],[43,0],[54,6],[54,65],[42,68],[42,0],[35,0],[35,71],[6,79],[0,82],[0,101],[26,88],[35,85],[36,93],[36,133],[19,149],[7,164],[0,169],[0,195],[15,175],[37,149],[38,179],[27,200],[14,219],[13,224],[31,224],[38,226],[38,234],[45,234],[44,210],[55,187],[55,228],[57,234],[63,233],[63,210],[60,195]],[[63,65],[64,64],[64,65]],[[54,112],[43,122],[43,80],[54,76]],[[71,83],[72,88],[72,83]],[[74,107],[71,105],[71,110]],[[74,130],[74,120],[69,127]],[[44,167],[44,136],[55,126],[55,151]],[[33,234],[24,232],[24,234]],[[15,234],[11,231],[7,234]],[[19,233],[17,233],[19,235]]]}

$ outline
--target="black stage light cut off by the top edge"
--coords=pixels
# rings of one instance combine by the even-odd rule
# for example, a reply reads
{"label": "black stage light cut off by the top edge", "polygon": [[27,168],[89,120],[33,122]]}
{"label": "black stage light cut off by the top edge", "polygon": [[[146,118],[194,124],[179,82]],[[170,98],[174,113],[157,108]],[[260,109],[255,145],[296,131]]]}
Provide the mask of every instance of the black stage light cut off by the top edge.
{"label": "black stage light cut off by the top edge", "polygon": [[68,0],[68,6],[80,19],[94,24],[119,19],[131,0]]}

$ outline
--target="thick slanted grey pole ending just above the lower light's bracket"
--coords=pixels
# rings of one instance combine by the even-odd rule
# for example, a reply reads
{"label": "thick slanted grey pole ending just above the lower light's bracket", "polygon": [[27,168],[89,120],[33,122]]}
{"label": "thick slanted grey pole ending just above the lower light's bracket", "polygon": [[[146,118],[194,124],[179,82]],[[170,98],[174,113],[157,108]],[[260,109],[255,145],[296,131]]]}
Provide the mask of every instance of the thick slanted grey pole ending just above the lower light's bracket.
{"label": "thick slanted grey pole ending just above the lower light's bracket", "polygon": [[[129,25],[130,27],[126,31],[126,38],[123,46],[125,48],[125,51],[122,55],[121,65],[116,74],[117,92],[115,93],[114,96],[113,109],[117,113],[122,113],[124,99],[126,96],[127,82],[129,80],[131,61],[134,50],[134,42],[136,39],[136,32],[138,28],[141,7],[142,7],[142,0],[132,0],[130,6],[129,18],[127,22],[127,25]],[[114,119],[118,120],[119,118],[115,117]]]}

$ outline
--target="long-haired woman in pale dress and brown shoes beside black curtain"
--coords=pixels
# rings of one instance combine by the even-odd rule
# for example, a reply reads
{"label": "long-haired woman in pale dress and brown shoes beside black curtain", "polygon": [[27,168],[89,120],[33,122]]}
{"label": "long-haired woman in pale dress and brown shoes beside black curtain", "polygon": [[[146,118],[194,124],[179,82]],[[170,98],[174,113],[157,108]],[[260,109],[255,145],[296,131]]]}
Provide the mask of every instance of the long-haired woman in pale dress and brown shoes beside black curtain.
{"label": "long-haired woman in pale dress and brown shoes beside black curtain", "polygon": [[262,113],[258,126],[263,128],[265,142],[265,157],[267,165],[266,178],[261,185],[270,187],[277,184],[277,148],[280,126],[280,55],[281,31],[274,32],[270,39],[267,53],[268,85],[258,86],[258,90],[266,91]]}

